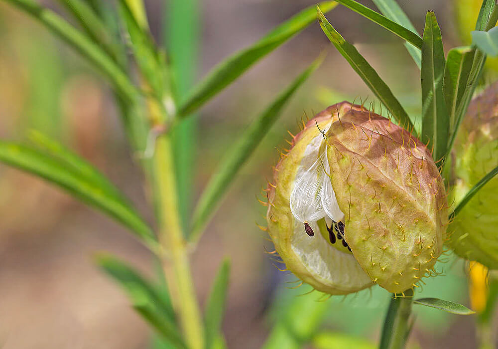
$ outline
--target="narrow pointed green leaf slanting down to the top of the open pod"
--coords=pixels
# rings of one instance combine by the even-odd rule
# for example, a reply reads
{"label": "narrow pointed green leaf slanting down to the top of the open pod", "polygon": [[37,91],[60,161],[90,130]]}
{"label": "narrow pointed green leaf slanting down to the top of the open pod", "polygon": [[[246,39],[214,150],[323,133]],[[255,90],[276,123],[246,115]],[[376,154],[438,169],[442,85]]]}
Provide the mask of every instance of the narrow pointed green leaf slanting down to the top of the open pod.
{"label": "narrow pointed green leaf slanting down to the top of the open pod", "polygon": [[318,19],[323,32],[334,44],[339,53],[349,62],[351,67],[365,81],[367,86],[372,90],[373,94],[380,102],[389,110],[392,117],[403,127],[413,129],[413,125],[408,117],[408,114],[392,94],[386,83],[378,76],[377,72],[367,62],[367,60],[358,52],[355,46],[347,42],[341,34],[329,23],[323,15],[320,7],[317,7]]}

